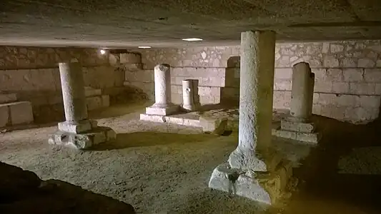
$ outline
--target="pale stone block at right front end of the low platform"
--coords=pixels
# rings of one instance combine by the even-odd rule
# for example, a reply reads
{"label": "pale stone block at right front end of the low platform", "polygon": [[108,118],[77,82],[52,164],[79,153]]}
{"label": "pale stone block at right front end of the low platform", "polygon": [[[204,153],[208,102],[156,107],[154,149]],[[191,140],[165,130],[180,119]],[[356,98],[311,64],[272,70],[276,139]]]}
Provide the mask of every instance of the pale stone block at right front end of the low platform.
{"label": "pale stone block at right front end of the low platform", "polygon": [[227,118],[208,118],[201,116],[199,123],[202,126],[202,131],[219,136],[227,129]]}

